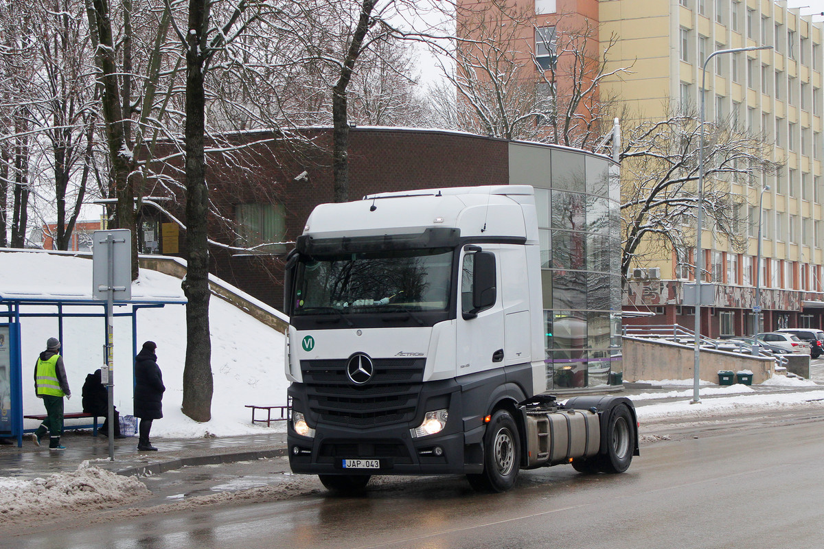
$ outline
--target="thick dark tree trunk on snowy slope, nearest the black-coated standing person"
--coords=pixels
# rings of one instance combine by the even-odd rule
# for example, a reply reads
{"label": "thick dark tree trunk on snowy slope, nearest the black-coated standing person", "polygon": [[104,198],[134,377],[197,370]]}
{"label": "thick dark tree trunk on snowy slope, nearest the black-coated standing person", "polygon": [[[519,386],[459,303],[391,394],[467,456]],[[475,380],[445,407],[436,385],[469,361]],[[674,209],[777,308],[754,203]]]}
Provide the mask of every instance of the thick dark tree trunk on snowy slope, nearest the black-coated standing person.
{"label": "thick dark tree trunk on snowy slope, nearest the black-coated standing person", "polygon": [[194,421],[212,419],[212,341],[208,322],[208,188],[204,154],[206,97],[206,27],[208,4],[189,2],[186,35],[186,249],[189,268],[183,283],[186,299],[186,360],[183,370],[183,413]]}

